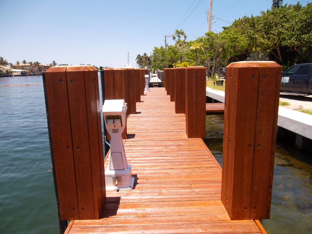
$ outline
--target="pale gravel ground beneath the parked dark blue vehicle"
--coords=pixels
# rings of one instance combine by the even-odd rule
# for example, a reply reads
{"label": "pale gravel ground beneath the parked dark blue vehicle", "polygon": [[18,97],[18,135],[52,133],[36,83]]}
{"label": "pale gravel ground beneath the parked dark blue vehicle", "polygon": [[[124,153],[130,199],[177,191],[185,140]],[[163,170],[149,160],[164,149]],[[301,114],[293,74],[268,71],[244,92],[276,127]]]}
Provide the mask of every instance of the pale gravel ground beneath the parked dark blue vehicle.
{"label": "pale gravel ground beneath the parked dark blue vehicle", "polygon": [[305,109],[312,110],[312,95],[299,96],[290,94],[280,94],[280,101],[289,102],[290,105],[283,106],[291,110],[294,109]]}

